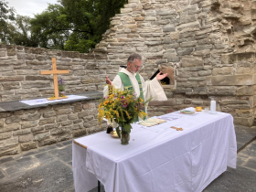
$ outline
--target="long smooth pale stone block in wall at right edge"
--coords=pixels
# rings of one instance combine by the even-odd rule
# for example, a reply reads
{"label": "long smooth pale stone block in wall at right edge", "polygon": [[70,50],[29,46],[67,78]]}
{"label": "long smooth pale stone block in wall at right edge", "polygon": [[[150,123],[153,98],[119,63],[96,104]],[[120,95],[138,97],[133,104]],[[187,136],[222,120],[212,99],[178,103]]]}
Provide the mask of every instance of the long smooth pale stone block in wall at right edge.
{"label": "long smooth pale stone block in wall at right edge", "polygon": [[254,85],[256,75],[223,75],[207,77],[208,85]]}

